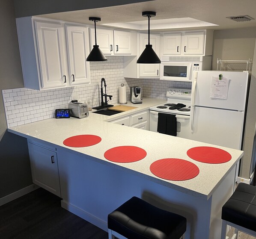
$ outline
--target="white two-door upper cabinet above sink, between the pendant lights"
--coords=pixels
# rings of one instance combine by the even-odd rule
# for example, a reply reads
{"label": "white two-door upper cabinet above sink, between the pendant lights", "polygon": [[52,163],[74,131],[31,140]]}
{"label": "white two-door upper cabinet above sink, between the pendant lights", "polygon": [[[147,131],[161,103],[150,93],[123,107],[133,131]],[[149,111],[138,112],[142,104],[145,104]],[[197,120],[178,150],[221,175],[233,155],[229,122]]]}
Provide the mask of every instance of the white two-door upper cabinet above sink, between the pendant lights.
{"label": "white two-door upper cabinet above sink, between the pendant lights", "polygon": [[[137,33],[96,29],[97,44],[104,55],[136,55]],[[95,30],[90,29],[91,49],[95,45]]]}

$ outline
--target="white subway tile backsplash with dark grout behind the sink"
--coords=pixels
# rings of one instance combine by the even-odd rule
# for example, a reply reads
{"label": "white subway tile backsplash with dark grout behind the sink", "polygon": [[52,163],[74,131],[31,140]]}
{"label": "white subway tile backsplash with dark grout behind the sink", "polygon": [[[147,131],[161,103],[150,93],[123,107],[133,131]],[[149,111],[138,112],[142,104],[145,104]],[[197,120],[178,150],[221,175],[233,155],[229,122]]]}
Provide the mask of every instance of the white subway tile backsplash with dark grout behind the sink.
{"label": "white subway tile backsplash with dark grout behind the sink", "polygon": [[63,89],[33,90],[26,88],[2,90],[8,127],[29,124],[43,119],[54,118],[55,109],[68,106],[72,97],[84,103],[90,100],[91,106],[101,102],[101,78],[107,83],[107,94],[113,95],[109,103],[118,103],[118,88],[124,83],[127,99],[130,86],[141,86],[143,97],[166,98],[167,87],[191,88],[191,83],[171,82],[159,79],[133,79],[123,77],[123,56],[108,56],[107,62],[90,62],[91,83],[70,86]]}

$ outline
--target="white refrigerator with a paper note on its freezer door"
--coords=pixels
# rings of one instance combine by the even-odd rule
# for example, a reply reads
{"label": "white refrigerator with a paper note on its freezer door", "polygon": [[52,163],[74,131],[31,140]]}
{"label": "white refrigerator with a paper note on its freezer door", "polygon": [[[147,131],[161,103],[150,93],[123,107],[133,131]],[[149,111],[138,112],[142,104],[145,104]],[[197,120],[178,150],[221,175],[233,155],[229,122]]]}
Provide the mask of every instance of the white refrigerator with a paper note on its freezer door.
{"label": "white refrigerator with a paper note on its freezer door", "polygon": [[193,72],[191,139],[241,150],[248,85],[248,72]]}

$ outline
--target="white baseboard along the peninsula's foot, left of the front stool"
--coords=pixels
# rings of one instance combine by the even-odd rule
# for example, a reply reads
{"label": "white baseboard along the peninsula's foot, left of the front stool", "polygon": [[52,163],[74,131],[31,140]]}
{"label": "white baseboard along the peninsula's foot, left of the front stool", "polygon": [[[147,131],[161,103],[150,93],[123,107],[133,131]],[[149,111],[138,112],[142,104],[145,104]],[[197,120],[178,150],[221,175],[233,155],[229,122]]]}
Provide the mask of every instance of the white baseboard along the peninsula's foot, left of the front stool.
{"label": "white baseboard along the peninsula's foot, left of the front stool", "polygon": [[107,221],[103,221],[100,218],[97,218],[94,215],[90,214],[89,212],[86,212],[83,209],[80,209],[79,207],[76,207],[64,200],[61,201],[61,207],[68,210],[69,212],[74,213],[80,218],[83,218],[84,220],[89,221],[90,223],[94,224],[96,227],[99,227],[102,230],[108,232]]}

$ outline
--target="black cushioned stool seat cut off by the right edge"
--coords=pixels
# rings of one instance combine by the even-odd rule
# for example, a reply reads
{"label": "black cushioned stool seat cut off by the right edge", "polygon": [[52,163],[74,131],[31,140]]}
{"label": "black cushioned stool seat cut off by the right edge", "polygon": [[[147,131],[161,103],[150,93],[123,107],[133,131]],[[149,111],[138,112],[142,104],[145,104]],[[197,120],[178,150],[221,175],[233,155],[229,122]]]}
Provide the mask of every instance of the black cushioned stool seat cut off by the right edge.
{"label": "black cushioned stool seat cut off by the right edge", "polygon": [[256,187],[239,183],[222,207],[223,220],[256,231]]}

